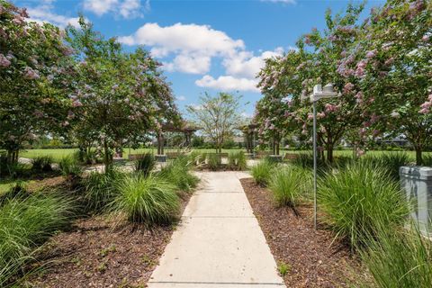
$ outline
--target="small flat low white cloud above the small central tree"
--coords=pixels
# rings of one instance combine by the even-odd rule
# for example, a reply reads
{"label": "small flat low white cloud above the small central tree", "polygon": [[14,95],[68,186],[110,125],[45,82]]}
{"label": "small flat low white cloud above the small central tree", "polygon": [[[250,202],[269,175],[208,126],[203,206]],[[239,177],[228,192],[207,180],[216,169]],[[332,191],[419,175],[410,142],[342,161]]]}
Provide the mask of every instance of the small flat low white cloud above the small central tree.
{"label": "small flat low white cloud above the small central tree", "polygon": [[218,89],[222,91],[250,91],[259,92],[257,79],[236,78],[234,76],[219,76],[217,79],[205,75],[196,80],[195,84],[200,87]]}

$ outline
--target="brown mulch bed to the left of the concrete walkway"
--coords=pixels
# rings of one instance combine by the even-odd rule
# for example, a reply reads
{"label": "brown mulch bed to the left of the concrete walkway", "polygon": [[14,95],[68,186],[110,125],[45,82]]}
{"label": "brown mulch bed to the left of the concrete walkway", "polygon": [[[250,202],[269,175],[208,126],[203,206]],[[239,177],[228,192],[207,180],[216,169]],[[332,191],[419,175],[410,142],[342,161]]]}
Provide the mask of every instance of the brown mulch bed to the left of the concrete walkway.
{"label": "brown mulch bed to the left of the concrete walkway", "polygon": [[[183,208],[190,195],[182,200]],[[145,287],[175,226],[114,224],[106,216],[76,220],[40,253],[31,287]]]}

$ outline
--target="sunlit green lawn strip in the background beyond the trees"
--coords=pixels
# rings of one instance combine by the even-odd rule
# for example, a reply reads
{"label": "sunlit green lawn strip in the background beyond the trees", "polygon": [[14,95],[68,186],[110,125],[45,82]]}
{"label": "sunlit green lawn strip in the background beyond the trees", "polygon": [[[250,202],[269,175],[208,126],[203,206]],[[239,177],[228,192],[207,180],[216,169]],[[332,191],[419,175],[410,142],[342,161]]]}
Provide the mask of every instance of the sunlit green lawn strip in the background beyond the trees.
{"label": "sunlit green lawn strip in the background beyond the trees", "polygon": [[[34,158],[38,156],[51,156],[55,160],[60,159],[61,157],[73,155],[74,152],[76,152],[76,148],[58,148],[58,149],[28,149],[23,150],[20,154],[20,157],[28,157],[28,158]],[[177,148],[166,148],[165,151],[177,151]],[[200,153],[204,152],[214,152],[215,150],[212,148],[197,148],[193,149],[194,151],[198,151]],[[245,149],[239,149],[239,148],[233,148],[233,149],[222,149],[223,153],[232,153],[232,152],[238,152],[240,150],[246,151]],[[157,148],[139,148],[139,149],[132,149],[132,148],[125,148],[123,152],[123,157],[128,158],[129,154],[140,154],[140,153],[146,153],[151,152],[156,154]],[[282,151],[281,153],[284,154],[285,152],[288,153],[307,153],[311,151]],[[406,151],[410,158],[412,160],[415,159],[415,152],[414,151]],[[348,156],[351,157],[353,155],[352,150],[335,150],[335,156]],[[390,153],[389,151],[381,151],[381,150],[374,150],[374,151],[368,151],[367,154],[382,154],[382,153]],[[432,154],[432,152],[425,152],[425,154]]]}

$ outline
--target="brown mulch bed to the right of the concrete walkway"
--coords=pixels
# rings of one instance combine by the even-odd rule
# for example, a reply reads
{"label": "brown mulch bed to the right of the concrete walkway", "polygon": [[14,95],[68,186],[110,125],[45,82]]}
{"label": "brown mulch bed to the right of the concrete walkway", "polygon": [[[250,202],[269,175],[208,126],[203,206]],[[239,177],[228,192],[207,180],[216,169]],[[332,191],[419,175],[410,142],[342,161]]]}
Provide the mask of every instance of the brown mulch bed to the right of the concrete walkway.
{"label": "brown mulch bed to the right of the concrete walkway", "polygon": [[329,230],[313,228],[313,207],[301,206],[296,216],[288,207],[276,207],[269,191],[253,179],[240,182],[276,262],[288,266],[287,287],[347,287],[367,281],[349,247],[334,241]]}

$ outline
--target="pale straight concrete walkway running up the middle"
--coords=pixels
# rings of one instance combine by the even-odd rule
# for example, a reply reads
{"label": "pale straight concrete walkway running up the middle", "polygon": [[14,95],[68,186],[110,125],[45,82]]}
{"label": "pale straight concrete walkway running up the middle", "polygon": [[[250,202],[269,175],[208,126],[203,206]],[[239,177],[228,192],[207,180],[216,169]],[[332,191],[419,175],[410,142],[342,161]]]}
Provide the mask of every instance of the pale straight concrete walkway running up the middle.
{"label": "pale straight concrete walkway running up the middle", "polygon": [[285,287],[238,181],[245,173],[207,172],[148,282],[160,287]]}

